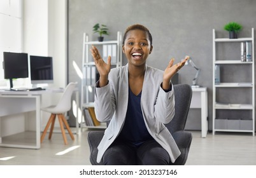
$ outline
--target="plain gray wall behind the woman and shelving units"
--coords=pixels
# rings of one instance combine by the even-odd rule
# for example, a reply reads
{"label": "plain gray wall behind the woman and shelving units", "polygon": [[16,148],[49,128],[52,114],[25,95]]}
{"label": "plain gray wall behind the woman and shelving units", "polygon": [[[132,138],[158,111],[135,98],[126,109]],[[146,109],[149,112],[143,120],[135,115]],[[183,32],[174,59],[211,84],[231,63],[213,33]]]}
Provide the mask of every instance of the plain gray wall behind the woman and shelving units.
{"label": "plain gray wall behind the woman and shelving units", "polygon": [[[92,27],[106,24],[110,36],[115,39],[117,31],[124,32],[132,24],[143,24],[152,32],[153,52],[148,65],[165,69],[171,57],[178,62],[190,55],[201,69],[198,84],[208,88],[208,113],[212,127],[213,83],[213,29],[218,37],[228,38],[223,30],[231,21],[243,25],[239,36],[250,36],[256,27],[256,1],[253,0],[69,0],[68,60],[69,81],[80,81],[73,61],[82,67],[83,32],[96,40]],[[124,59],[124,64],[126,64]],[[179,83],[192,84],[196,71],[185,66],[179,72]],[[246,77],[246,74],[245,74]],[[200,111],[194,109],[188,116],[188,129],[200,130]]]}

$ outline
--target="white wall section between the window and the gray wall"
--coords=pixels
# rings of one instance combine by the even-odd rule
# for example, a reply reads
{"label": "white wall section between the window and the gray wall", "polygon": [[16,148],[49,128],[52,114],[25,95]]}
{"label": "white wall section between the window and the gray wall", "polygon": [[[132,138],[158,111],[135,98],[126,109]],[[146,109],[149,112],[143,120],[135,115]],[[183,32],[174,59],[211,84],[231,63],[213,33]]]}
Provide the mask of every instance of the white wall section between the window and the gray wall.
{"label": "white wall section between the window and the gray wall", "polygon": [[[24,50],[31,55],[53,57],[51,87],[64,88],[67,84],[67,1],[24,1]],[[44,106],[57,104],[60,95],[44,96]],[[50,114],[42,113],[44,128]],[[58,123],[56,123],[58,126]]]}

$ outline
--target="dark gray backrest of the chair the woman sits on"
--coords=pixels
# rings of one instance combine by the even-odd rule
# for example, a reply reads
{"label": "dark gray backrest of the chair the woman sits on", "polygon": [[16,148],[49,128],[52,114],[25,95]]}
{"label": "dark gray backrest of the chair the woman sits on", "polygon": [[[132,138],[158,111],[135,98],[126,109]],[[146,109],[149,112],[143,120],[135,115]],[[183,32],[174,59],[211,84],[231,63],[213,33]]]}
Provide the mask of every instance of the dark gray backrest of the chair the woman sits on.
{"label": "dark gray backrest of the chair the woman sits on", "polygon": [[175,97],[175,115],[171,122],[166,124],[169,132],[183,131],[192,99],[192,88],[187,84],[173,85]]}

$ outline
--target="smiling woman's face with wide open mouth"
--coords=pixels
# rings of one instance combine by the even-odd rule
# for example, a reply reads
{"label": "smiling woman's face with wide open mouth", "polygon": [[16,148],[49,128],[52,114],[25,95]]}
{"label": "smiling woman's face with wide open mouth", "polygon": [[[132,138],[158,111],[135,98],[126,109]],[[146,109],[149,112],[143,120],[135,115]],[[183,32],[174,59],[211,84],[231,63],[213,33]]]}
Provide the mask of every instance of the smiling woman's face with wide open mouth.
{"label": "smiling woman's face with wide open mouth", "polygon": [[127,32],[122,50],[130,65],[140,66],[145,65],[152,48],[146,32],[132,30]]}

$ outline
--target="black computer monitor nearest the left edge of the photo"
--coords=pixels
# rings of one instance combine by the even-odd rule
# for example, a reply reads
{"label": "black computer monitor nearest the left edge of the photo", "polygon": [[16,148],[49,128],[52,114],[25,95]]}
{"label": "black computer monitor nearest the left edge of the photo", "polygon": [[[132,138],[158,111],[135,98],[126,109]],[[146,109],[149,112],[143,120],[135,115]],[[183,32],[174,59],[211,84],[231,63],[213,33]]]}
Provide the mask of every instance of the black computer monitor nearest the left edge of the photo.
{"label": "black computer monitor nearest the left edge of the photo", "polygon": [[28,78],[29,65],[27,53],[3,52],[4,79],[10,79],[10,89],[14,78]]}

